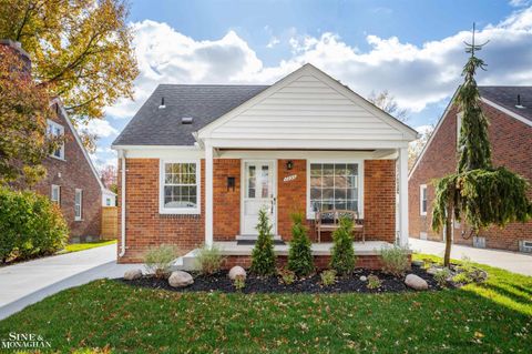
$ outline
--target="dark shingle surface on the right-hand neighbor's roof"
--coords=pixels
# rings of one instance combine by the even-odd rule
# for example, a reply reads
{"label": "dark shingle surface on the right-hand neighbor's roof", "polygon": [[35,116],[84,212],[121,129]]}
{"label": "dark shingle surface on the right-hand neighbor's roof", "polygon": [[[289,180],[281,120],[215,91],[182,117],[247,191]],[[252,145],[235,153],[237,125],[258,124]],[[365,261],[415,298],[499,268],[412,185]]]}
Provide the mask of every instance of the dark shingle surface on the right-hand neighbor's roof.
{"label": "dark shingle surface on the right-hand neighbor's roof", "polygon": [[[479,87],[480,95],[532,121],[532,87]],[[518,94],[521,105],[516,108]]]}

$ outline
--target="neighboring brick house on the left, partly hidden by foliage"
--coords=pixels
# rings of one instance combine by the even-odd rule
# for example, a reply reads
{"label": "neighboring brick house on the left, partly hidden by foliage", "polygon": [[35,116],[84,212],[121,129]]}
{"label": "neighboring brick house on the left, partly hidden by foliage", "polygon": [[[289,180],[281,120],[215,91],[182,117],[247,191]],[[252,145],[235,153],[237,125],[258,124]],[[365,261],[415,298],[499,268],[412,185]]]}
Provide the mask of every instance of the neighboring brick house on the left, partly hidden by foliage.
{"label": "neighboring brick house on the left, partly hidden by foliage", "polygon": [[[16,51],[27,63],[25,70],[31,71],[30,55],[21,49],[20,43],[1,40],[0,45]],[[53,115],[48,119],[47,132],[64,135],[64,143],[44,159],[42,164],[47,169],[47,175],[32,189],[50,196],[61,206],[71,241],[98,239],[104,186],[61,101],[53,99],[50,104]]]}

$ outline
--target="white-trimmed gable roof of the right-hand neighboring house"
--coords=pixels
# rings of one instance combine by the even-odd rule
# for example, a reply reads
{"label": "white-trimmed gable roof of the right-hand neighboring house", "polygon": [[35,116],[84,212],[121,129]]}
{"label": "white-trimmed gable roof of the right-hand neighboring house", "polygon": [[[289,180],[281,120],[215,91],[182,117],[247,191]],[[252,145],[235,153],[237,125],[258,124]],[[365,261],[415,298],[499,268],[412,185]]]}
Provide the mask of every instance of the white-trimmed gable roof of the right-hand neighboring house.
{"label": "white-trimmed gable roof of the right-hand neighboring house", "polygon": [[[459,88],[458,88],[459,89]],[[419,165],[419,162],[423,159],[424,152],[429,149],[433,138],[438,133],[443,120],[447,118],[450,109],[454,104],[454,99],[458,93],[458,89],[454,91],[451,100],[449,101],[443,114],[440,117],[434,131],[430,135],[429,140],[424,144],[421,153],[416,159],[412,169],[408,173],[408,179],[413,174]],[[499,111],[532,127],[532,87],[479,87],[481,100],[498,109]],[[521,95],[521,104],[524,109],[515,107],[518,101],[518,94]]]}

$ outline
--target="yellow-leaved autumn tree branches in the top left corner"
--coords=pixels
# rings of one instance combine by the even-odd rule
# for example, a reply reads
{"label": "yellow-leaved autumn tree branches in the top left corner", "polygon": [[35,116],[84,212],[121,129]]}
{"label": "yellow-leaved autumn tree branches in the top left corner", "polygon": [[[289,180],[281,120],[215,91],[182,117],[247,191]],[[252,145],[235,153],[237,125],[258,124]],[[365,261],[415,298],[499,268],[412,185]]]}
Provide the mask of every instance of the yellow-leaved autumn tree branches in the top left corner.
{"label": "yellow-leaved autumn tree branches in the top left corner", "polygon": [[0,38],[22,43],[33,77],[74,125],[131,98],[137,67],[122,0],[0,0]]}

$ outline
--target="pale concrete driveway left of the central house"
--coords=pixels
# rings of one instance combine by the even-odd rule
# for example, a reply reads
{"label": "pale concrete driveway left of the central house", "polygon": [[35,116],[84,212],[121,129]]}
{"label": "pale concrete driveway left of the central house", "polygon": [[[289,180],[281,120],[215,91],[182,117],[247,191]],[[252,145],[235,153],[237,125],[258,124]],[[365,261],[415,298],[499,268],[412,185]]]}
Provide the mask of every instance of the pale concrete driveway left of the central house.
{"label": "pale concrete driveway left of the central house", "polygon": [[121,277],[139,264],[116,264],[116,244],[0,267],[0,320],[64,289]]}

